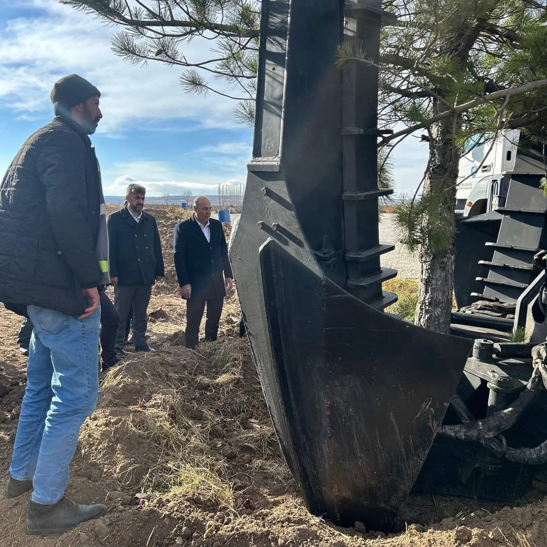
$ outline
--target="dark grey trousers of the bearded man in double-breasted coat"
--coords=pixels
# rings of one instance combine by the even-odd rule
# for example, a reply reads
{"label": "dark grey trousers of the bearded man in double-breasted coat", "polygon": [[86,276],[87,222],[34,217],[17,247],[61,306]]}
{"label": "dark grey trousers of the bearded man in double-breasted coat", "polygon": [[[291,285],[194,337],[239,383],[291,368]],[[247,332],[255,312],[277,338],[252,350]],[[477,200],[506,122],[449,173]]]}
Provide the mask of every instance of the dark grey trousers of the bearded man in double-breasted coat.
{"label": "dark grey trousers of the bearded man in double-breasted coat", "polygon": [[116,347],[120,350],[125,342],[125,325],[129,309],[133,305],[133,344],[136,348],[146,346],[146,327],[148,325],[148,302],[152,285],[120,285],[114,287],[114,306],[120,314]]}

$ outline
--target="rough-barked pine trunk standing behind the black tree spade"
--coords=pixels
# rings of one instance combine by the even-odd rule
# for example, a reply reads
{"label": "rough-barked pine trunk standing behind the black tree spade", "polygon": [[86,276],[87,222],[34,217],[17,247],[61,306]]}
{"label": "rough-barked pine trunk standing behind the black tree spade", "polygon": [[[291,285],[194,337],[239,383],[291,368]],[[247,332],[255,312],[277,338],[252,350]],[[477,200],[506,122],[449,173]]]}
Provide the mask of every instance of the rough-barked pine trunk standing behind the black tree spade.
{"label": "rough-barked pine trunk standing behind the black tree spade", "polygon": [[421,327],[448,333],[454,286],[454,205],[458,174],[458,154],[453,143],[453,120],[443,120],[431,127],[430,169],[424,184],[423,195],[440,196],[439,208],[430,210],[424,218],[427,233],[434,230],[440,217],[447,245],[434,248],[431,238],[421,246],[420,283],[415,323]]}

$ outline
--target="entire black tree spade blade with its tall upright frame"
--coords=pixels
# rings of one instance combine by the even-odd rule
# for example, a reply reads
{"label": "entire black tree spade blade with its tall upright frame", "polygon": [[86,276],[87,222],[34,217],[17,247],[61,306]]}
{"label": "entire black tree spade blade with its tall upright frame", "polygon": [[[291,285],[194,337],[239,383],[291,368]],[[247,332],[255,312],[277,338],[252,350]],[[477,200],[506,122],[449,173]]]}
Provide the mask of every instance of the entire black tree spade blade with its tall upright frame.
{"label": "entire black tree spade blade with its tall upright frame", "polygon": [[[470,341],[379,310],[380,0],[264,0],[253,159],[230,251],[284,456],[312,513],[388,529],[456,391]],[[347,289],[347,290],[346,290]],[[348,292],[350,291],[350,292]],[[366,303],[365,303],[366,302]]]}

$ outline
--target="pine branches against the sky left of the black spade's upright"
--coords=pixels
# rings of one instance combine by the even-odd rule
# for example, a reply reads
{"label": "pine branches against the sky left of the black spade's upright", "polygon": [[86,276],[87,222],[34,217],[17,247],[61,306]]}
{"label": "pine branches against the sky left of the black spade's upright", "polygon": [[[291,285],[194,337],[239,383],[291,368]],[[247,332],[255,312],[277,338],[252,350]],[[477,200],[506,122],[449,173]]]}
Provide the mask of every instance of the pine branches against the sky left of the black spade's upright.
{"label": "pine branches against the sky left of the black spade's upright", "polygon": [[[182,67],[188,93],[212,92],[238,101],[236,118],[252,125],[257,75],[260,4],[248,0],[59,0],[122,27],[112,50],[134,65]],[[209,40],[205,58],[185,53],[192,40]],[[211,83],[211,78],[213,83]],[[230,90],[218,80],[231,84]]]}

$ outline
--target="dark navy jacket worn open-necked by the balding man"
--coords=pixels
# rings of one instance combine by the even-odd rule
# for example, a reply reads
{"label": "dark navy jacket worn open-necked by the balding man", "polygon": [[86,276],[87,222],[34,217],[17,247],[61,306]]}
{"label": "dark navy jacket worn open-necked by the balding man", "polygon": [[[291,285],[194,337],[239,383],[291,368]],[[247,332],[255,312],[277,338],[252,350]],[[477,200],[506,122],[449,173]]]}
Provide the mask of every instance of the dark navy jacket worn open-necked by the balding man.
{"label": "dark navy jacket worn open-necked by the balding man", "polygon": [[[194,215],[174,229],[173,253],[179,286],[192,286],[191,298],[224,298],[224,276],[233,277],[222,223],[209,219],[211,241],[203,235]],[[224,276],[223,276],[224,272]]]}

